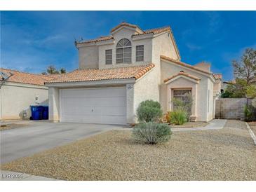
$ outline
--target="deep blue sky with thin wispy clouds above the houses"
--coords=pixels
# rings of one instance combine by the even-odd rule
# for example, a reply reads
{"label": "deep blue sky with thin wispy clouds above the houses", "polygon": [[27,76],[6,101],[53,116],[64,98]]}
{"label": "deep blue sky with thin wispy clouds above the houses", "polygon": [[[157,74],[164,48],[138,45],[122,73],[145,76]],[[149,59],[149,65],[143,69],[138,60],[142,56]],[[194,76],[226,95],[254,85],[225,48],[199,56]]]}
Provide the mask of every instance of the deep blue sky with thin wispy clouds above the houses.
{"label": "deep blue sky with thin wispy clouds above the houses", "polygon": [[210,62],[224,80],[232,60],[256,48],[256,11],[1,11],[1,66],[41,73],[53,64],[79,67],[74,41],[109,35],[125,21],[152,29],[170,26],[182,62]]}

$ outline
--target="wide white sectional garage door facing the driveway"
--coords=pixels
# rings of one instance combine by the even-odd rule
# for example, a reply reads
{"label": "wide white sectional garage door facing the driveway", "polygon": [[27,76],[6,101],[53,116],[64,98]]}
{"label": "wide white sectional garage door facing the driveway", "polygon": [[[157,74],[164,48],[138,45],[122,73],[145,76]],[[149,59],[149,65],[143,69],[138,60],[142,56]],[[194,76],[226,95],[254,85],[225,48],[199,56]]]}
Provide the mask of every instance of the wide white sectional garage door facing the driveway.
{"label": "wide white sectional garage door facing the driveway", "polygon": [[62,89],[60,121],[126,124],[126,88]]}

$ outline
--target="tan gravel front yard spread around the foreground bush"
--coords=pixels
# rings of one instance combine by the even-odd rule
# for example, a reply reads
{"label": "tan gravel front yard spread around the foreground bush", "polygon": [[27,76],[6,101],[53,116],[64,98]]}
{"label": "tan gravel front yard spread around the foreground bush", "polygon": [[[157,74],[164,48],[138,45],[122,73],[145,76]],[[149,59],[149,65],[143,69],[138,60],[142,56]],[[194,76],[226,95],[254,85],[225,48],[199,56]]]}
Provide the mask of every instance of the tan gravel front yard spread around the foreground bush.
{"label": "tan gravel front yard spread around the foreground bush", "polygon": [[65,180],[256,180],[256,147],[241,121],[173,132],[166,144],[137,144],[130,135],[112,130],[1,169]]}

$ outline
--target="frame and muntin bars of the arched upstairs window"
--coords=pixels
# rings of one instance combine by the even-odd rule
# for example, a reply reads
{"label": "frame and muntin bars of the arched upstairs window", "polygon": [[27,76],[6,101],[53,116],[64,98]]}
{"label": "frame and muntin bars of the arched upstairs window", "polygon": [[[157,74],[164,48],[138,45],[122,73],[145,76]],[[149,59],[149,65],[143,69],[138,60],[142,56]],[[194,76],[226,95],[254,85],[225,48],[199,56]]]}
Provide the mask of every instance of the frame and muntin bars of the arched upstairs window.
{"label": "frame and muntin bars of the arched upstairs window", "polygon": [[[128,40],[128,44],[130,44],[129,46],[125,46],[124,45],[124,40],[125,40],[126,38],[123,38],[123,39],[120,39],[119,40],[119,42],[120,41],[123,41],[123,45],[122,46],[119,46],[119,42],[117,42],[116,43],[116,64],[130,64],[130,63],[132,63],[132,52],[133,52],[133,50],[132,50],[132,43],[130,42],[130,40],[129,39],[126,39],[126,40]],[[127,44],[126,43],[126,44]],[[128,51],[128,52],[125,52],[125,49],[126,48],[130,48],[130,51]],[[118,53],[118,51],[117,50],[122,50],[122,52],[121,53]],[[129,54],[130,55],[130,57],[125,57],[125,54]],[[117,55],[122,55],[123,57],[117,57]],[[125,60],[126,59],[130,59],[130,61],[129,62],[125,62]],[[123,60],[123,62],[117,62],[117,60]]]}

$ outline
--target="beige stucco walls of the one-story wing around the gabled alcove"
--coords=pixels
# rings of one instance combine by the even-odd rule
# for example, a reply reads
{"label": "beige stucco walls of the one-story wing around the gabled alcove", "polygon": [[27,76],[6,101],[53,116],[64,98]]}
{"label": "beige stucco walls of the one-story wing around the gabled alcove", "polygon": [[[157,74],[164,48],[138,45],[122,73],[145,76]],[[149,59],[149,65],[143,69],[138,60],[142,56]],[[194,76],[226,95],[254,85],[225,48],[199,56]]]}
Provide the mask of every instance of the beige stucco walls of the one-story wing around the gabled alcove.
{"label": "beige stucco walls of the one-story wing around the gabled alcove", "polygon": [[[166,85],[163,81],[173,75],[178,74],[180,71],[184,71],[185,73],[191,74],[192,76],[196,76],[201,80],[196,85],[196,94],[194,94],[194,114],[196,114],[196,121],[210,121],[213,118],[213,80],[210,78],[210,75],[203,74],[200,71],[196,71],[193,69],[189,69],[186,67],[182,67],[179,64],[175,64],[174,62],[168,62],[165,60],[161,61],[161,91],[160,91],[160,103],[163,107],[163,111],[170,111],[171,108],[168,105],[171,97],[168,96],[168,85]],[[192,81],[191,81],[192,82]],[[173,82],[173,88],[193,88],[192,84],[189,81],[185,81],[179,79],[176,82]],[[210,90],[210,97],[208,102],[208,90]],[[193,91],[192,91],[193,92]],[[209,110],[208,110],[209,107]]]}

